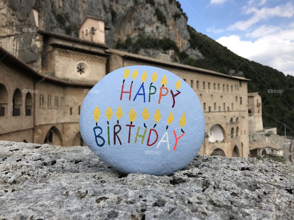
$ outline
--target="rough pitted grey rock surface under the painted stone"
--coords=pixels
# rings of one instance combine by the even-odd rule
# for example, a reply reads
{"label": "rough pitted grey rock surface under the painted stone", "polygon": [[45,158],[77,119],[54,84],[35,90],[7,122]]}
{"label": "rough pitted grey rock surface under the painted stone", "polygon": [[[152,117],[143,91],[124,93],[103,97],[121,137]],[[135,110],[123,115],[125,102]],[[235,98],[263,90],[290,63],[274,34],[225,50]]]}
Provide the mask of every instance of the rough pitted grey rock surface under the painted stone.
{"label": "rough pitted grey rock surface under the painted stone", "polygon": [[293,219],[294,214],[294,168],[270,159],[198,155],[172,176],[126,175],[87,147],[0,141],[0,171],[0,219]]}

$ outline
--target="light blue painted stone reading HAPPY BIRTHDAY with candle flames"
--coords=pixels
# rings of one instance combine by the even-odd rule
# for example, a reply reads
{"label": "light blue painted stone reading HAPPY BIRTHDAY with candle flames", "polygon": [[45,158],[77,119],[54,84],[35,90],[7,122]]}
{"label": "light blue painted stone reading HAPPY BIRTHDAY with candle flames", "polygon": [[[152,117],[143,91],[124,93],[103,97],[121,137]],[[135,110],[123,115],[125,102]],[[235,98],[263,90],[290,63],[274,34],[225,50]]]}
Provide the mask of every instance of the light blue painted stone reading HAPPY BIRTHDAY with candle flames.
{"label": "light blue painted stone reading HAPPY BIRTHDAY with candle flames", "polygon": [[194,90],[170,71],[129,66],[103,77],[80,113],[81,136],[123,173],[170,175],[186,167],[205,133]]}

